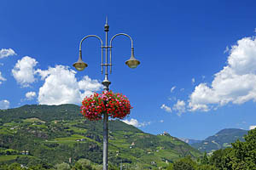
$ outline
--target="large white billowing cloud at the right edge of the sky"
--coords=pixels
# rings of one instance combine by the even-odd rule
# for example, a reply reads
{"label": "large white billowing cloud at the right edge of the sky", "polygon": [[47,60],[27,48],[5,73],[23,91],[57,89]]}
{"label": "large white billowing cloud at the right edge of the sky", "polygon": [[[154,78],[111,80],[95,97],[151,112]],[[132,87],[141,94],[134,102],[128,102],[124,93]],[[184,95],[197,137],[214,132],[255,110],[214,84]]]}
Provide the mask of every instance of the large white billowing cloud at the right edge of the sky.
{"label": "large white billowing cloud at the right edge of the sky", "polygon": [[189,96],[190,111],[209,111],[218,106],[256,101],[256,39],[244,37],[230,49],[227,65],[210,85],[201,83]]}

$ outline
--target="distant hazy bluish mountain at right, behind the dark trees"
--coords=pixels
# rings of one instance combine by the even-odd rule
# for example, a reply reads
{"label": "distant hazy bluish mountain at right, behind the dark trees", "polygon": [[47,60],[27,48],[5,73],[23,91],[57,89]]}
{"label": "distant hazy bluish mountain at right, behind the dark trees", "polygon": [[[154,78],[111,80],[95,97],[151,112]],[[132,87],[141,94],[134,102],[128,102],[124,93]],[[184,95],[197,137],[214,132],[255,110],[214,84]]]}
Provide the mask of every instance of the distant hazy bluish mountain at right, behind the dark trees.
{"label": "distant hazy bluish mountain at right, behind the dark trees", "polygon": [[201,143],[191,144],[191,146],[202,152],[210,153],[214,150],[231,147],[231,143],[236,142],[237,139],[244,141],[243,136],[245,134],[247,134],[247,130],[238,128],[225,128],[215,135],[201,141]]}

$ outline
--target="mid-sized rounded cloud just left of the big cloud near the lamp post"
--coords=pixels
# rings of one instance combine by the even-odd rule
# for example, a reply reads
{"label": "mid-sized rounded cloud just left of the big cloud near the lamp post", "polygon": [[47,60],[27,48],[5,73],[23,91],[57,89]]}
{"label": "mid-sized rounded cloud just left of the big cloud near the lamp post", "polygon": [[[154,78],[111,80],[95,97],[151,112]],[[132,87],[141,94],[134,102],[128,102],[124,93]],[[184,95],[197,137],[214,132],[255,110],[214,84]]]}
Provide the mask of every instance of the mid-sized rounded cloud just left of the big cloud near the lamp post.
{"label": "mid-sized rounded cloud just left of the big cloud near the lamp post", "polygon": [[36,81],[34,67],[37,64],[38,61],[29,56],[25,56],[17,61],[12,73],[21,87],[29,87],[32,82]]}

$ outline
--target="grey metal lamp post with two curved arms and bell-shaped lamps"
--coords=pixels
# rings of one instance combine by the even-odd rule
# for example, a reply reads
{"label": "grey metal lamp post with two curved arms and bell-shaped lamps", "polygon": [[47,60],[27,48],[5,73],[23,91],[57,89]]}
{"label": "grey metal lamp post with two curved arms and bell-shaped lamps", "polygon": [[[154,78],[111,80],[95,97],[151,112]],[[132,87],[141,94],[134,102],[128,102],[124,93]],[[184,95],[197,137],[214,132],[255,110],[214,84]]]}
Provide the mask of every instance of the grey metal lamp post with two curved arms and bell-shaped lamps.
{"label": "grey metal lamp post with two curved arms and bell-shaped lamps", "polygon": [[[138,61],[137,59],[135,59],[134,57],[134,48],[133,48],[133,41],[131,39],[131,37],[125,33],[119,33],[114,35],[109,42],[109,46],[108,46],[108,31],[109,31],[109,26],[108,26],[108,20],[106,20],[106,24],[104,26],[104,31],[106,34],[106,38],[105,38],[105,46],[103,46],[103,42],[102,42],[102,38],[96,36],[96,35],[89,35],[84,37],[80,44],[79,44],[79,60],[73,64],[73,66],[78,70],[78,71],[83,71],[85,67],[87,67],[88,65],[86,63],[84,63],[84,61],[82,60],[82,43],[84,42],[84,40],[88,37],[96,37],[100,40],[101,42],[101,48],[102,48],[102,73],[103,73],[103,66],[105,66],[105,78],[102,82],[103,85],[103,89],[105,92],[108,92],[109,90],[109,85],[111,82],[109,82],[108,80],[108,66],[110,66],[110,73],[112,72],[112,56],[111,56],[111,48],[112,48],[112,41],[115,37],[117,36],[125,36],[125,37],[129,37],[131,40],[131,58],[128,59],[127,61],[125,61],[125,64],[128,65],[130,68],[136,68],[137,65],[140,64],[140,61]],[[103,49],[105,48],[105,63],[103,63]],[[109,62],[108,62],[108,48],[109,48]],[[103,170],[108,170],[108,114],[107,112],[103,113]]]}

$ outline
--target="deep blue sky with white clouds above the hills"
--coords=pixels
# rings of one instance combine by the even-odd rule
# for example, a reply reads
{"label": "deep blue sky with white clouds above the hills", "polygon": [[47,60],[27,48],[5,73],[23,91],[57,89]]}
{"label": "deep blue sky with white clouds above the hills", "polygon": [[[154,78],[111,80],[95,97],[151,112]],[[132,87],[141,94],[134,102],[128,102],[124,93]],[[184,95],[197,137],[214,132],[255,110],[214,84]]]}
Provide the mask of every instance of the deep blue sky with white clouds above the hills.
{"label": "deep blue sky with white clouds above the hills", "polygon": [[125,122],[147,133],[205,139],[226,127],[256,125],[256,2],[13,1],[0,6],[0,108],[78,104],[100,92],[101,48],[83,43],[89,66],[73,69],[79,41],[113,41],[110,89],[134,109]]}

